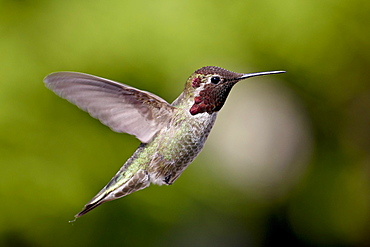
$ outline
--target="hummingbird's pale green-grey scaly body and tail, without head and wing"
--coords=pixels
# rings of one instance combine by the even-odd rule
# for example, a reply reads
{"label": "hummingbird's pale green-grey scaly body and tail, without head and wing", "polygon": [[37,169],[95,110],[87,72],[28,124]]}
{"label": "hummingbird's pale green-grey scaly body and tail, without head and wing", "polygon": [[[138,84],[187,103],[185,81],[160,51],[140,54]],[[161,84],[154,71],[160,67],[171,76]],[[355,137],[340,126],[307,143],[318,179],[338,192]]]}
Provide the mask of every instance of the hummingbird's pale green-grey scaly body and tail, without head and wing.
{"label": "hummingbird's pale green-grey scaly body and tail, without head and wing", "polygon": [[144,189],[151,183],[170,185],[181,175],[202,150],[217,113],[189,119],[189,113],[180,108],[175,114],[152,142],[140,144],[111,181],[77,216],[103,202]]}

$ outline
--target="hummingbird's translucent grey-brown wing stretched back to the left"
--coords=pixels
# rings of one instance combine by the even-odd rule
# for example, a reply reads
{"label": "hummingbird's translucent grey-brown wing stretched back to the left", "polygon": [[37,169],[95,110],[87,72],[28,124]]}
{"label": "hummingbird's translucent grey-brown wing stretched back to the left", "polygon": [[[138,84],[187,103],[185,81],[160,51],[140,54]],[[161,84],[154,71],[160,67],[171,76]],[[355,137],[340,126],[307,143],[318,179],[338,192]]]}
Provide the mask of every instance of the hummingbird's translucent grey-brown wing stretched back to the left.
{"label": "hummingbird's translucent grey-brown wing stretched back to the left", "polygon": [[88,74],[56,72],[44,82],[113,131],[135,135],[143,143],[166,124],[174,109],[154,94]]}

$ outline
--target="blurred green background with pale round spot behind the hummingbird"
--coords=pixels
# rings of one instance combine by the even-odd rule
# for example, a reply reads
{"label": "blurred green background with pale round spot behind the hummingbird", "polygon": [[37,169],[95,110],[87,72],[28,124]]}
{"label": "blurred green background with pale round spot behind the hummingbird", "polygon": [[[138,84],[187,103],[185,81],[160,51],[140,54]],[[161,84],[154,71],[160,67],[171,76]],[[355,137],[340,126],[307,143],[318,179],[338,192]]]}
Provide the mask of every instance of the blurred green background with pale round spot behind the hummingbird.
{"label": "blurred green background with pale round spot behind the hummingbird", "polygon": [[[0,3],[0,246],[370,246],[369,1]],[[172,102],[206,65],[288,73],[236,85],[174,185],[68,223],[139,142],[43,78]]]}

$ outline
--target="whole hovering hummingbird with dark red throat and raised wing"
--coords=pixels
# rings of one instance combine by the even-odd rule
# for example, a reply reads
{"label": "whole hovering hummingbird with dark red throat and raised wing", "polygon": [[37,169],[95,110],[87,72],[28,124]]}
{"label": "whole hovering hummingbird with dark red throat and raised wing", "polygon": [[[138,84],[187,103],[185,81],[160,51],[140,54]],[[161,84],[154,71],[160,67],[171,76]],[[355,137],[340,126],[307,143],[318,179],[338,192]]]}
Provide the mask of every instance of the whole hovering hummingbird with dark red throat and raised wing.
{"label": "whole hovering hummingbird with dark red throat and raised wing", "polygon": [[46,87],[119,133],[141,144],[116,175],[75,215],[150,184],[171,185],[198,156],[232,87],[239,81],[285,71],[235,73],[206,66],[196,70],[171,104],[150,92],[78,72],[55,72]]}

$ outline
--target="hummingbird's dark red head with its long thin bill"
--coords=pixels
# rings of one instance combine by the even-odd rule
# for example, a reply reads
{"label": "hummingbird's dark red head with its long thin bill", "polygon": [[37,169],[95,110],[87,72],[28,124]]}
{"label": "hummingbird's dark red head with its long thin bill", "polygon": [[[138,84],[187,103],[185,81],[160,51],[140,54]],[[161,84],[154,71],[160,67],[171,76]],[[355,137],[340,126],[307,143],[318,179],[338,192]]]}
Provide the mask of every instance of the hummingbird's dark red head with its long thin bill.
{"label": "hummingbird's dark red head with its long thin bill", "polygon": [[[215,66],[207,66],[196,70],[188,79],[187,87],[193,89],[194,103],[190,113],[219,111],[224,105],[231,88],[241,80],[249,77],[284,73],[285,71],[270,71],[242,74],[228,71]],[[188,85],[190,84],[190,85]]]}

